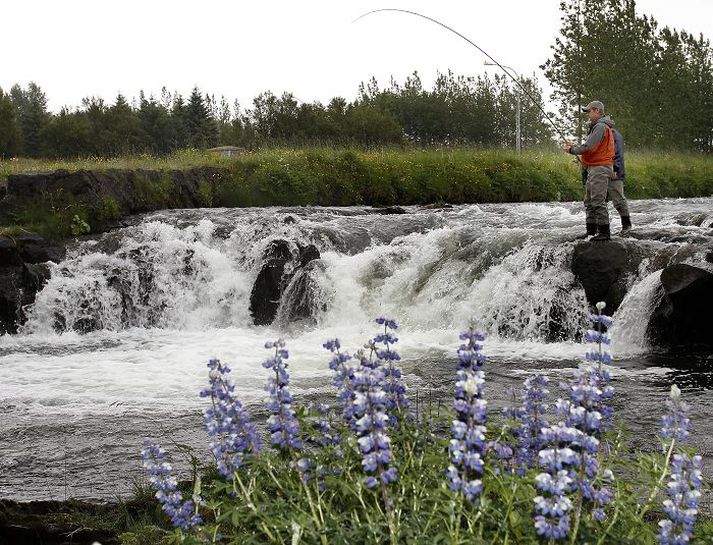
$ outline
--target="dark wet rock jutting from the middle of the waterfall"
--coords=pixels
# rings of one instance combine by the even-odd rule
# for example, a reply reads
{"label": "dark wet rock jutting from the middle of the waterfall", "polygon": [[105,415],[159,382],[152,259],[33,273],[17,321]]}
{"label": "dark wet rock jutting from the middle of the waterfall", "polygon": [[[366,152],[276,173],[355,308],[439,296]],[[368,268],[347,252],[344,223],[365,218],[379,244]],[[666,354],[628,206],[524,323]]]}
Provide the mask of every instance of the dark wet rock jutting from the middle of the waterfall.
{"label": "dark wet rock jutting from the middle of the waterfall", "polygon": [[255,325],[274,321],[282,294],[292,277],[319,257],[319,250],[311,244],[291,247],[286,240],[273,240],[265,248],[262,267],[250,293],[250,314]]}

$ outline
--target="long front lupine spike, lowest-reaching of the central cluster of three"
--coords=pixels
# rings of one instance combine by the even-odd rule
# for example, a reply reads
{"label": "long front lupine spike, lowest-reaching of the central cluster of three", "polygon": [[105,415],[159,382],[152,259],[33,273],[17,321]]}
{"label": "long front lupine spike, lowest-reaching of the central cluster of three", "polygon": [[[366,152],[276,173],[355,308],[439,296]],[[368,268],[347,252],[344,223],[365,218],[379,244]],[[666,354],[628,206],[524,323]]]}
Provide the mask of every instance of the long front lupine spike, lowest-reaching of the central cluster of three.
{"label": "long front lupine spike, lowest-reaching of the central cluster of three", "polygon": [[387,396],[382,388],[384,370],[363,351],[356,354],[361,365],[352,376],[351,427],[356,432],[362,467],[368,474],[364,484],[374,488],[379,483],[385,490],[397,480],[391,439],[387,434],[389,416],[386,410]]}

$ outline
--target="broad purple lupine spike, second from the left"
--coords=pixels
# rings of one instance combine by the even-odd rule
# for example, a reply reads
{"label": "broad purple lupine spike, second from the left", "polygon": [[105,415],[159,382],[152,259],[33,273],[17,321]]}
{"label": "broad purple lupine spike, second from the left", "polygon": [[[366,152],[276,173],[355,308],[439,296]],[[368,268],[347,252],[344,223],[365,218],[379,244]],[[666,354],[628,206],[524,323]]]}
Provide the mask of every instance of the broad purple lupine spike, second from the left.
{"label": "broad purple lupine spike, second from the left", "polygon": [[235,385],[229,377],[230,368],[219,360],[208,362],[208,387],[201,397],[210,397],[211,406],[203,413],[209,444],[215,456],[218,472],[232,480],[233,472],[242,465],[246,456],[258,452],[262,442],[250,416],[235,394]]}

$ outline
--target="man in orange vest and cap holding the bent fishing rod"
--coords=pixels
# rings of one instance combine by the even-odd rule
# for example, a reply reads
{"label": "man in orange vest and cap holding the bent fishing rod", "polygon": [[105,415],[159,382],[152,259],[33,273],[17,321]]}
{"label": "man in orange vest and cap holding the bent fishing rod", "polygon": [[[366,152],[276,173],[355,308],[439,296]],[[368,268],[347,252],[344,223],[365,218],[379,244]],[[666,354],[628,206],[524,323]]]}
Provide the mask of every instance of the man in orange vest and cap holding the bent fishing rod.
{"label": "man in orange vest and cap holding the bent fishing rod", "polygon": [[614,131],[606,123],[604,104],[594,100],[582,111],[589,117],[587,140],[581,146],[566,142],[564,150],[572,155],[579,155],[582,166],[586,168],[587,179],[584,192],[584,210],[587,217],[587,236],[590,240],[609,240],[609,211],[607,210],[607,191],[609,182],[614,177],[614,155],[616,146]]}

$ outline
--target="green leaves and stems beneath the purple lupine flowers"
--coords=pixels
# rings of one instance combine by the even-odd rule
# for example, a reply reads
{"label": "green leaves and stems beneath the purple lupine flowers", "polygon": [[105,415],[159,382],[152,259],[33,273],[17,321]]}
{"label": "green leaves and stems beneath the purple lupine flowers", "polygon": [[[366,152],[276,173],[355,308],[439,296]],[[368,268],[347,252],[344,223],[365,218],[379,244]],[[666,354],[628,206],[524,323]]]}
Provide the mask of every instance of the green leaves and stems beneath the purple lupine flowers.
{"label": "green leaves and stems beneath the purple lupine flowers", "polygon": [[[535,488],[538,471],[512,475],[490,451],[482,502],[465,502],[451,492],[445,478],[445,430],[452,415],[437,413],[431,405],[421,410],[424,412],[418,423],[390,431],[399,479],[389,486],[389,499],[393,502],[389,509],[384,508],[381,491],[363,485],[361,455],[352,434],[333,421],[332,428],[340,430],[339,448],[317,448],[319,437],[309,425],[309,417],[314,415],[301,410],[301,428],[308,436],[308,444],[313,445],[309,456],[321,475],[319,482],[305,482],[293,461],[268,450],[239,468],[233,483],[203,479],[204,524],[190,532],[166,534],[165,539],[170,543],[245,545],[543,543],[533,522],[534,498],[539,494]],[[500,435],[497,428],[492,429],[495,433],[489,439]],[[655,504],[660,505],[659,485],[667,465],[662,454],[629,452],[622,437],[621,431],[613,431],[605,438],[607,454],[602,467],[612,468],[616,475],[607,520],[597,522],[586,509],[582,510],[576,538],[568,538],[567,543],[657,543],[657,521],[662,513],[646,513],[642,498],[656,490]],[[222,538],[216,539],[216,535]],[[711,520],[703,517],[692,543],[707,543],[712,535]]]}

